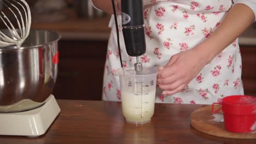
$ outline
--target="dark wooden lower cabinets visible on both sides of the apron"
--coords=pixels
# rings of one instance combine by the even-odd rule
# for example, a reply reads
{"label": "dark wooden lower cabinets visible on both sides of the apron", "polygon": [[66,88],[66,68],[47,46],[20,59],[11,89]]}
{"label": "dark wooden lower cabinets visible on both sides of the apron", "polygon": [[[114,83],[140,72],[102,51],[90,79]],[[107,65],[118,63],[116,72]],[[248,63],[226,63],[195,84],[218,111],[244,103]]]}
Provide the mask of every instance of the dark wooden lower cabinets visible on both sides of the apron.
{"label": "dark wooden lower cabinets visible on both sides of the apron", "polygon": [[[60,99],[101,100],[107,41],[61,40],[53,94]],[[256,46],[241,46],[245,94],[256,96]]]}

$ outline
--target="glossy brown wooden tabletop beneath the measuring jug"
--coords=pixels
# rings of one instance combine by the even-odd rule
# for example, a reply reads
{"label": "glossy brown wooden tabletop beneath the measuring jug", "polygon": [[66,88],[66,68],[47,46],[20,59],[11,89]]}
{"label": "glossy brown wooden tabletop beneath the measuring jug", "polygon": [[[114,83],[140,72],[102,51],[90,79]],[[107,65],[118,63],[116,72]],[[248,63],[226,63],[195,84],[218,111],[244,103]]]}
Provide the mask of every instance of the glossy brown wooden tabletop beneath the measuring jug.
{"label": "glossy brown wooden tabletop beneath the measuring jug", "polygon": [[43,136],[0,136],[0,143],[256,143],[203,134],[190,126],[190,114],[204,105],[156,104],[152,122],[125,122],[120,102],[57,100],[61,113]]}

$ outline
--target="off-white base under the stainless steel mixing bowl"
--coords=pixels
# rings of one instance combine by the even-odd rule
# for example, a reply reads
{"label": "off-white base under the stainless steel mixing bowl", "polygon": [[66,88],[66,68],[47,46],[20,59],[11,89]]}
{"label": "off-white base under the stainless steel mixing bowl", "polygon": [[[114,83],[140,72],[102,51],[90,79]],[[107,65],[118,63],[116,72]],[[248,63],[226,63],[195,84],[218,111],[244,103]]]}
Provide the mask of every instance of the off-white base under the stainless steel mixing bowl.
{"label": "off-white base under the stainless steel mixing bowl", "polygon": [[37,109],[0,113],[0,135],[43,135],[59,113],[60,107],[52,94],[45,100],[44,105]]}

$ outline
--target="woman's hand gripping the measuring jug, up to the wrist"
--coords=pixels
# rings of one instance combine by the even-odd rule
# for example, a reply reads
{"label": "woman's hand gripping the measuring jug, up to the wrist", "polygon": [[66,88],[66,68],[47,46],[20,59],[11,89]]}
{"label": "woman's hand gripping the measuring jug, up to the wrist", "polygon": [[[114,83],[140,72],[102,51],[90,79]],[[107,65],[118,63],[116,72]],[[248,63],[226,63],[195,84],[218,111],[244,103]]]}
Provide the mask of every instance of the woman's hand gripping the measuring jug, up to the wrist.
{"label": "woman's hand gripping the measuring jug, up to the wrist", "polygon": [[159,67],[158,86],[164,90],[162,94],[172,95],[182,91],[207,63],[207,56],[197,49],[173,55],[165,67]]}

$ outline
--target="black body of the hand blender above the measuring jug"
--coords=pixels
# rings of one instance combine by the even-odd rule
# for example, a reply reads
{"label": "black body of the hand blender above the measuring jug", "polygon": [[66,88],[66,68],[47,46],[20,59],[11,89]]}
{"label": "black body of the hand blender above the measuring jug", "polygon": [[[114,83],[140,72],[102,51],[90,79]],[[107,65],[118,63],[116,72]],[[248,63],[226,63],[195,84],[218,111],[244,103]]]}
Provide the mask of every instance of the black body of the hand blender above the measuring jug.
{"label": "black body of the hand blender above the measuring jug", "polygon": [[121,0],[121,16],[126,51],[138,57],[146,52],[142,0]]}

